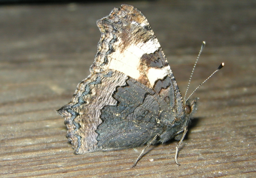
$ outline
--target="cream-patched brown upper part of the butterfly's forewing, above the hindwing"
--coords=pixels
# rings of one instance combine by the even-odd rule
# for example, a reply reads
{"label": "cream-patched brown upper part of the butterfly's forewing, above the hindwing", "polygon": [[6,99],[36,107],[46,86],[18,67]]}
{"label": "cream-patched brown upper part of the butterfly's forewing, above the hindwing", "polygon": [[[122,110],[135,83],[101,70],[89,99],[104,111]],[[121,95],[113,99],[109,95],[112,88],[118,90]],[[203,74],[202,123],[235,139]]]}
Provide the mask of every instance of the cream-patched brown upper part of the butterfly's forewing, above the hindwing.
{"label": "cream-patched brown upper part of the butterfly's forewing, above the hindwing", "polygon": [[153,87],[172,71],[148,20],[131,5],[97,22],[102,33],[92,73],[114,69]]}

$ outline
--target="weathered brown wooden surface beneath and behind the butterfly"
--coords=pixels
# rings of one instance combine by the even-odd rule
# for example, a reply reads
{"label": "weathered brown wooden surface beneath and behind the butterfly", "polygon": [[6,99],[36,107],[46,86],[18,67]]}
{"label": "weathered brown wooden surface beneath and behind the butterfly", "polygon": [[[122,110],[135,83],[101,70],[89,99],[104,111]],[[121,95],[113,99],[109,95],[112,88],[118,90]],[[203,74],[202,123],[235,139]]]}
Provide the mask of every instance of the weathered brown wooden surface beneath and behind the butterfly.
{"label": "weathered brown wooden surface beneath and behind the butterfly", "polygon": [[151,146],[135,168],[143,147],[73,154],[55,110],[89,74],[100,39],[96,20],[120,5],[0,7],[0,176],[255,177],[255,1],[132,2],[151,24],[183,95],[202,41],[188,93],[225,62],[194,94],[200,106],[180,167],[176,141]]}

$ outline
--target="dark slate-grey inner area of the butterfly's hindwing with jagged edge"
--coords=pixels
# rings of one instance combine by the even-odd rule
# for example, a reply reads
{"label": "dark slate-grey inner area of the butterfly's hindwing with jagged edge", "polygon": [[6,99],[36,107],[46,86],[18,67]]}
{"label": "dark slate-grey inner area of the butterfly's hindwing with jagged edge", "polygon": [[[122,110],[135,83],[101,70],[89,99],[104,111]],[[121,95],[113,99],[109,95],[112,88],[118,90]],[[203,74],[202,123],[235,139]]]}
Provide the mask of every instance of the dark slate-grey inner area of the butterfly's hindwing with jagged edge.
{"label": "dark slate-grey inner area of the butterfly's hindwing with jagged edge", "polygon": [[151,141],[156,134],[160,137],[154,143],[169,140],[177,132],[172,133],[172,128],[181,126],[175,122],[172,109],[151,88],[133,78],[126,82],[113,95],[118,104],[102,109],[103,123],[96,130],[98,146],[102,150],[137,147]]}

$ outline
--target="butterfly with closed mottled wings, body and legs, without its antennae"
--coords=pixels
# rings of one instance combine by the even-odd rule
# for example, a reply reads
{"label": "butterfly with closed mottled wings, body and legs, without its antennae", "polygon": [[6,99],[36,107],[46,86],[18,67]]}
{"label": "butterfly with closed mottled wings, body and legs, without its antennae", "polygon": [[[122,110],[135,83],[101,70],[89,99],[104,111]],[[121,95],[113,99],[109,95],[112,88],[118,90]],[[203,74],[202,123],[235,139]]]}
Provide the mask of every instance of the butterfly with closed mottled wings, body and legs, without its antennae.
{"label": "butterfly with closed mottled wings, body and legs, without its antennae", "polygon": [[180,140],[198,98],[183,101],[164,52],[148,20],[123,4],[98,20],[101,31],[91,74],[72,100],[57,110],[76,154],[146,147]]}

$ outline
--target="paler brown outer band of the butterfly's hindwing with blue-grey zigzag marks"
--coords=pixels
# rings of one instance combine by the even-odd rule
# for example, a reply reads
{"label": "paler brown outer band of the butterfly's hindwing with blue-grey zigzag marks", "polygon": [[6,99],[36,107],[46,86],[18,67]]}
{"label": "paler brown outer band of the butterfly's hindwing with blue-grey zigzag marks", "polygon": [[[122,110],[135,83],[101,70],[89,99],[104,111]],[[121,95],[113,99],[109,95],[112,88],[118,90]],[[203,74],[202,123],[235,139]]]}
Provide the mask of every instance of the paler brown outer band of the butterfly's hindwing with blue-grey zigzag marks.
{"label": "paler brown outer band of the butterfly's hindwing with blue-grey zigzag marks", "polygon": [[117,104],[112,94],[116,86],[125,85],[126,80],[123,73],[112,70],[89,76],[77,85],[71,102],[57,111],[65,117],[67,137],[75,153],[92,152],[98,148],[95,130],[102,122],[100,110],[106,105]]}

